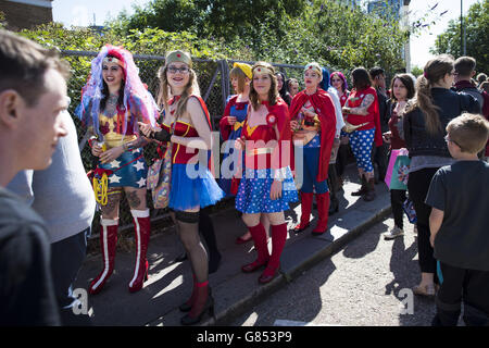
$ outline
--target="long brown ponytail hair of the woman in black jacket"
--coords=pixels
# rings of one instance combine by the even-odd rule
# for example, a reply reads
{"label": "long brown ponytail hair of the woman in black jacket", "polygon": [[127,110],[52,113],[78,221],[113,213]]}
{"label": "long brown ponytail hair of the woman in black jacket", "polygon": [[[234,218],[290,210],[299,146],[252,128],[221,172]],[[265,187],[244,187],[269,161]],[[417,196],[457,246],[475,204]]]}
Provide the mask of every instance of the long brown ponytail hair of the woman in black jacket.
{"label": "long brown ponytail hair of the woman in black jacket", "polygon": [[441,133],[441,122],[438,114],[439,107],[432,102],[431,88],[434,84],[440,82],[447,74],[453,71],[453,57],[441,54],[428,61],[424,73],[416,80],[416,96],[408,108],[408,112],[419,108],[425,115],[426,130],[429,135]]}

